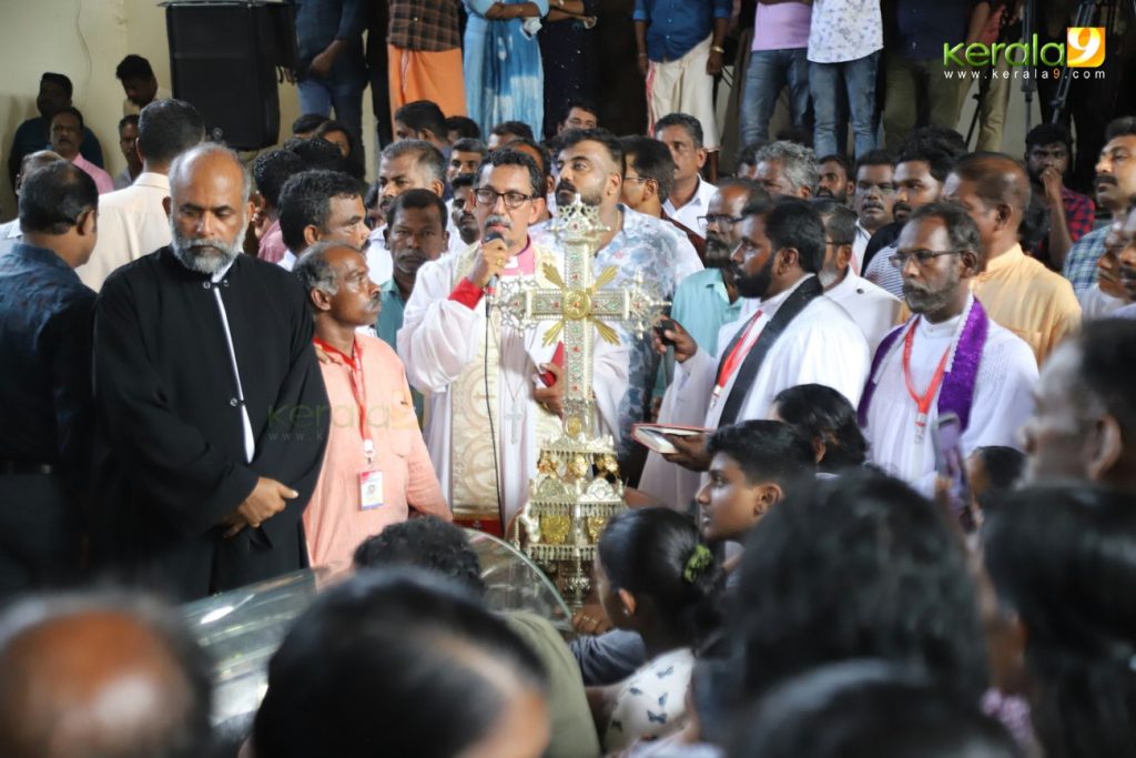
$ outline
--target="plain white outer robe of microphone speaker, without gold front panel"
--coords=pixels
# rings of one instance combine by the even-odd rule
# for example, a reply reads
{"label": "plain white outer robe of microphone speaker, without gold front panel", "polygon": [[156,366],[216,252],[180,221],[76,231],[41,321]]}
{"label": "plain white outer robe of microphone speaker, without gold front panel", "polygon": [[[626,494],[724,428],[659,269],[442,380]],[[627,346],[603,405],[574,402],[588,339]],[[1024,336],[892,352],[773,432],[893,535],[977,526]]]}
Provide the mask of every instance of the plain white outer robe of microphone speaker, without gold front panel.
{"label": "plain white outer robe of microphone speaker, without gold front panel", "polygon": [[[428,394],[426,447],[451,506],[454,505],[452,403],[463,400],[453,397],[451,388],[471,361],[482,359],[486,336],[485,301],[470,309],[449,299],[456,281],[454,268],[463,258],[443,256],[423,265],[398,334],[399,357],[406,364],[408,381]],[[557,265],[562,266],[559,255],[556,258]],[[541,344],[550,325],[551,322],[542,322],[524,332],[503,325],[499,335],[490,334],[491,340],[500,338],[499,408],[492,431],[498,443],[507,522],[528,500],[528,481],[536,474],[542,440],[536,433],[536,416],[541,411],[533,400],[533,389],[540,382],[537,366],[550,363],[554,351],[554,347]],[[627,391],[628,355],[628,347],[611,345],[594,336],[593,390],[601,434],[618,434],[619,400]],[[488,434],[486,428],[485,435]]]}

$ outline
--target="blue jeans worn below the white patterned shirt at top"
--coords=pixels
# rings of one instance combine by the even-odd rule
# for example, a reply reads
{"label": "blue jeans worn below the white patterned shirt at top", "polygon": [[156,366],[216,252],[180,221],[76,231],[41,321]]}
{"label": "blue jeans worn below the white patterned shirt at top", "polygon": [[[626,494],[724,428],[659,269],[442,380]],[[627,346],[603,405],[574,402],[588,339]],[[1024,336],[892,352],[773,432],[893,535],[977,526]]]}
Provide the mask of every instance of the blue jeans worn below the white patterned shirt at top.
{"label": "blue jeans worn below the white patterned shirt at top", "polygon": [[[836,144],[836,118],[841,90],[847,93],[852,132],[855,134],[855,155],[876,149],[872,120],[876,115],[876,67],[879,51],[841,64],[809,64],[809,89],[816,115],[812,144],[817,156],[843,155],[844,145]],[[912,108],[914,103],[912,103]]]}

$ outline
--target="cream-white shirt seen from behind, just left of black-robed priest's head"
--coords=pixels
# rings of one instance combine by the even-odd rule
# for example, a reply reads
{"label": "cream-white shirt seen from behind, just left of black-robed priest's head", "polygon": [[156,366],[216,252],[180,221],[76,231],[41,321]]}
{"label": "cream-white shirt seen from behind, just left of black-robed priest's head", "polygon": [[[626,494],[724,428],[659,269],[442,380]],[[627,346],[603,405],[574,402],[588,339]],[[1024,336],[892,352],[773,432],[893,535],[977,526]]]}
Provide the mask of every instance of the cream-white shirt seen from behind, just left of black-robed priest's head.
{"label": "cream-white shirt seen from behind, just left of black-robed priest's head", "polygon": [[124,190],[99,198],[99,239],[91,259],[75,269],[83,284],[98,292],[118,267],[173,242],[162,201],[169,177],[143,172]]}

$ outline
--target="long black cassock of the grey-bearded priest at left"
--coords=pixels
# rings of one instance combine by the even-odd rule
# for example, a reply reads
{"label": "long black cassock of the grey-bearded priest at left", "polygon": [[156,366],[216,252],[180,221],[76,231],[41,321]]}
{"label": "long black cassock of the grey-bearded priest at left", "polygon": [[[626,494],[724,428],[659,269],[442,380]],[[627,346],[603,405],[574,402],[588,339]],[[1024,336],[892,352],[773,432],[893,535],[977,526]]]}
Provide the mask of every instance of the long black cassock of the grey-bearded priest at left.
{"label": "long black cassock of the grey-bearded priest at left", "polygon": [[[215,292],[256,440],[249,464]],[[299,281],[250,256],[214,283],[162,248],[107,280],[94,336],[97,567],[192,599],[307,565],[301,514],[329,419],[311,335]],[[222,519],[258,476],[300,497],[260,528],[224,539]]]}

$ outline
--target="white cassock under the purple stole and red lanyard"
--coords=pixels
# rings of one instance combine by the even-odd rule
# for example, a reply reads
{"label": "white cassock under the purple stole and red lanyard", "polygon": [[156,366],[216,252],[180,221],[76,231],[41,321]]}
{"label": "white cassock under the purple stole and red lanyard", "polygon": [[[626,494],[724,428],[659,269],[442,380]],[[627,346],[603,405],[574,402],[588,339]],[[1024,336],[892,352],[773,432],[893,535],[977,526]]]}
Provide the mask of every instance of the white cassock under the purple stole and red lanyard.
{"label": "white cassock under the purple stole and red lanyard", "polygon": [[[911,383],[916,392],[926,392],[930,386],[943,353],[959,336],[963,315],[942,324],[928,324],[919,318],[911,344]],[[1020,450],[1018,432],[1034,410],[1030,392],[1037,382],[1037,360],[1033,349],[1009,330],[993,320],[988,323],[970,420],[961,439],[963,456],[991,445]],[[938,419],[938,395],[930,405],[927,431],[920,442],[916,433],[919,409],[903,377],[902,343],[880,365],[878,377],[864,427],[868,457],[887,473],[930,495],[935,486],[932,434]]]}

